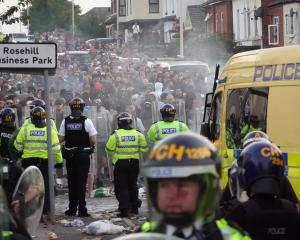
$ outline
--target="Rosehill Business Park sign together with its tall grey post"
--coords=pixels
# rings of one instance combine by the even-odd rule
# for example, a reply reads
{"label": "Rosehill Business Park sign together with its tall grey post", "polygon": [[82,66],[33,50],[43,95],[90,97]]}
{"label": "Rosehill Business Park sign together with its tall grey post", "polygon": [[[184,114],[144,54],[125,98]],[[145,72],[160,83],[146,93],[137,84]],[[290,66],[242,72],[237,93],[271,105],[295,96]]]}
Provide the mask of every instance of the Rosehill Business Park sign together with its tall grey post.
{"label": "Rosehill Business Park sign together with its tall grey post", "polygon": [[25,74],[44,75],[47,145],[48,145],[48,173],[50,218],[55,223],[54,199],[54,161],[52,154],[51,120],[49,103],[49,74],[54,74],[57,67],[57,46],[55,43],[4,43],[0,44],[0,72],[16,72]]}

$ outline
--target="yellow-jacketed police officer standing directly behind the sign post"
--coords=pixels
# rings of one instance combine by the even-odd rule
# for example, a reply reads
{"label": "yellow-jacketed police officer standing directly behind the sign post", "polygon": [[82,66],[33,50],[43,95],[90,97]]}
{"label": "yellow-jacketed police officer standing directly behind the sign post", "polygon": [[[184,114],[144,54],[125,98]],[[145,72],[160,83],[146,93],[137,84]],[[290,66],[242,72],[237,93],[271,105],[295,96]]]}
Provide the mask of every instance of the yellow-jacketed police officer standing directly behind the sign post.
{"label": "yellow-jacketed police officer standing directly behind the sign post", "polygon": [[[44,214],[50,210],[49,202],[49,177],[48,177],[48,149],[46,112],[42,107],[35,107],[31,113],[31,123],[21,127],[14,146],[17,151],[22,152],[22,166],[36,166],[40,169],[45,182],[45,204]],[[61,167],[63,158],[58,141],[57,132],[51,129],[52,150],[55,167]]]}

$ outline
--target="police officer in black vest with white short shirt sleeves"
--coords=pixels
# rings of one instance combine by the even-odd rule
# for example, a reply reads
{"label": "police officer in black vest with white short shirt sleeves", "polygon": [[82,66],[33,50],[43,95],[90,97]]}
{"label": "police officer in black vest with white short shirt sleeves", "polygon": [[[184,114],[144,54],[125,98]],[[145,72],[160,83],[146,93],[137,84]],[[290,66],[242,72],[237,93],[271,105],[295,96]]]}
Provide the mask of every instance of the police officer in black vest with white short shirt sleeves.
{"label": "police officer in black vest with white short shirt sleeves", "polygon": [[69,106],[71,115],[62,121],[58,134],[60,142],[65,142],[68,175],[69,209],[65,214],[75,216],[78,210],[79,217],[88,217],[86,183],[97,131],[91,119],[82,115],[85,103],[81,98],[72,99]]}

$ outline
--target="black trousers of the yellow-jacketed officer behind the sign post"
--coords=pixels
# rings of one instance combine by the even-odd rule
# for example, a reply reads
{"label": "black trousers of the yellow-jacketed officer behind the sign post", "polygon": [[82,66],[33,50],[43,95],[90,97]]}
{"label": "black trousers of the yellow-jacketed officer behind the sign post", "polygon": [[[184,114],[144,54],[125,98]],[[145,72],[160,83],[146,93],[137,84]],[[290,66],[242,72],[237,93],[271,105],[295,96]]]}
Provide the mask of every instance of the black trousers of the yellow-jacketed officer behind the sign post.
{"label": "black trousers of the yellow-jacketed officer behind the sign post", "polygon": [[25,158],[22,160],[22,167],[25,169],[29,166],[36,166],[40,169],[45,183],[45,202],[43,213],[50,211],[50,194],[49,194],[49,173],[48,173],[48,159],[41,158]]}

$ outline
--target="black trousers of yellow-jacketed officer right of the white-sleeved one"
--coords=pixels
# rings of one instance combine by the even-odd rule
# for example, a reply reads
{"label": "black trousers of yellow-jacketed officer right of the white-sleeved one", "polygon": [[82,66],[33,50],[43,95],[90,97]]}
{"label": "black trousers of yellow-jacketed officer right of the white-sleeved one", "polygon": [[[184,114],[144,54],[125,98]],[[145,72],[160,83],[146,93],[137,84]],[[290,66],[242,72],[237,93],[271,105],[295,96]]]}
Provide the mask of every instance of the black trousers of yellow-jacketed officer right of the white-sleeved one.
{"label": "black trousers of yellow-jacketed officer right of the white-sleeved one", "polygon": [[114,168],[115,195],[119,201],[119,210],[132,210],[140,207],[137,178],[139,161],[137,159],[118,160]]}

